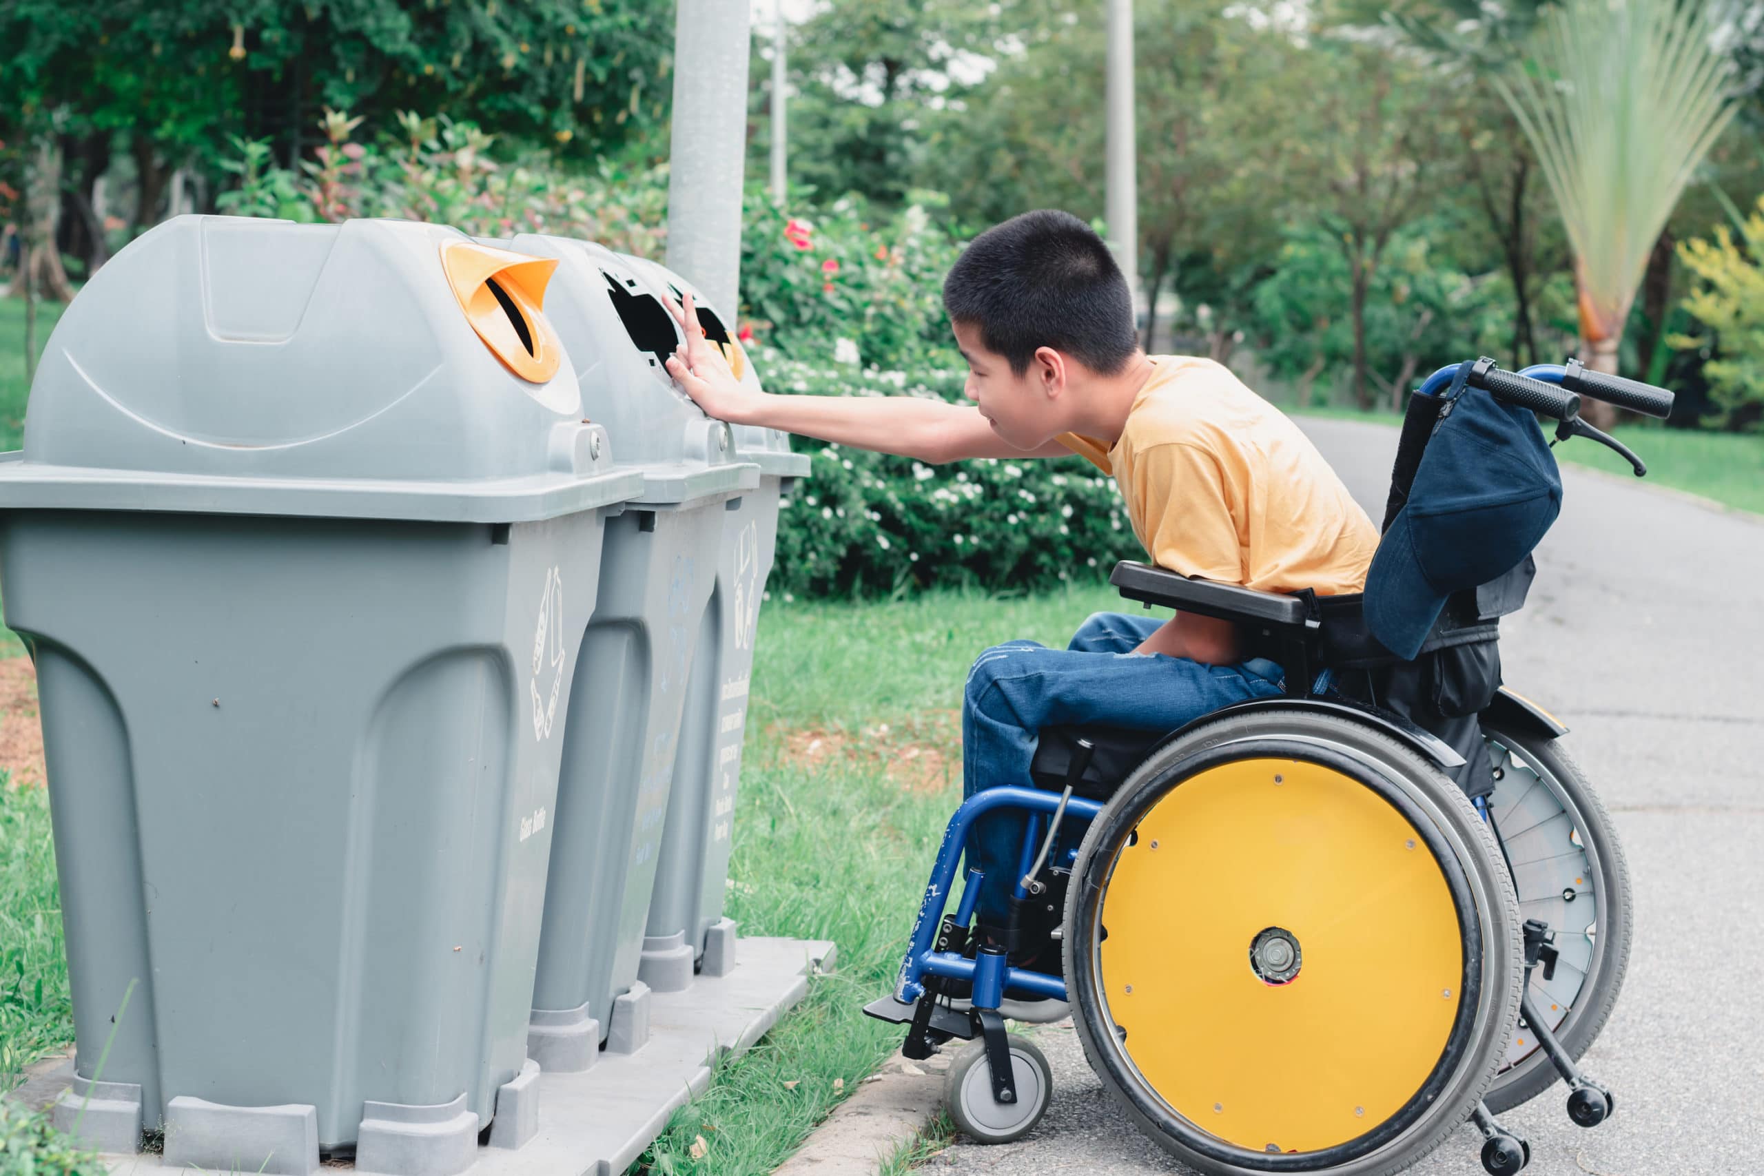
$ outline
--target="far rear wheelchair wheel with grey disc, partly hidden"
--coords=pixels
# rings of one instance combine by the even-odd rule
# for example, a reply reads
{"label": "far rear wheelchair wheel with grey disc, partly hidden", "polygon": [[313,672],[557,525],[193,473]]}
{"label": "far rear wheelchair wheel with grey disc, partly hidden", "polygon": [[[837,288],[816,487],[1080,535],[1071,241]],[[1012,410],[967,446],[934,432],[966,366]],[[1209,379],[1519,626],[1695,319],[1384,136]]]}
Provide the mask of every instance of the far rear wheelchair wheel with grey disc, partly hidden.
{"label": "far rear wheelchair wheel with grey disc, partly hidden", "polygon": [[[1499,772],[1489,811],[1514,862],[1519,904],[1556,931],[1554,975],[1533,971],[1531,1003],[1579,1060],[1611,1017],[1630,963],[1633,904],[1623,845],[1561,739],[1491,719],[1482,733]],[[1536,1038],[1521,1030],[1485,1102],[1496,1114],[1512,1111],[1556,1079]]]}

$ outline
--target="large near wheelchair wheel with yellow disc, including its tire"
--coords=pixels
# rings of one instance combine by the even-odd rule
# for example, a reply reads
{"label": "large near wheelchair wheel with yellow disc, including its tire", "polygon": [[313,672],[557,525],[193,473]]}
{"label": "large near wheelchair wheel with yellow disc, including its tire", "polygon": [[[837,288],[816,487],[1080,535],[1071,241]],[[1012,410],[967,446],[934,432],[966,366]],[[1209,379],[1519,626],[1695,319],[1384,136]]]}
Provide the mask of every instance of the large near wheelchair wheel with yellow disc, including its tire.
{"label": "large near wheelchair wheel with yellow disc, including its tire", "polygon": [[1388,1176],[1492,1081],[1519,929],[1492,832],[1432,762],[1270,707],[1127,776],[1085,834],[1062,943],[1090,1067],[1178,1160]]}

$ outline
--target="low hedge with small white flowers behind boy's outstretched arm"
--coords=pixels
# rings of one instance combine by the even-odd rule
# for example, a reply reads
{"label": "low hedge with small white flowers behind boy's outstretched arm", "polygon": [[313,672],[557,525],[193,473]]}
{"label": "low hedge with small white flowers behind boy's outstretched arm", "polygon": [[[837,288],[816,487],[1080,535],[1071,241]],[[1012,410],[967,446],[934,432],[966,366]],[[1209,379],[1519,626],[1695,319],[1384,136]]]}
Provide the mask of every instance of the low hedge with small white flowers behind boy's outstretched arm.
{"label": "low hedge with small white flowers behind boy's outstretched arm", "polygon": [[[771,391],[956,400],[961,374],[908,377],[755,356]],[[813,458],[778,517],[771,592],[826,596],[972,584],[1035,589],[1143,555],[1113,478],[1083,458],[924,465],[797,439]]]}

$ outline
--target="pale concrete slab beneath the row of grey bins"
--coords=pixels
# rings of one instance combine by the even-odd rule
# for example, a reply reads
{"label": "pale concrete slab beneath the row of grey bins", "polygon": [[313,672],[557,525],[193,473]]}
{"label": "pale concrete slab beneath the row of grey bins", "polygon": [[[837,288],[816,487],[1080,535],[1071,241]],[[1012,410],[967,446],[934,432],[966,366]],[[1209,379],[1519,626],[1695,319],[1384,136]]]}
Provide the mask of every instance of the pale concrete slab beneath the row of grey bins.
{"label": "pale concrete slab beneath the row of grey bins", "polygon": [[[803,1000],[811,973],[834,964],[826,940],[743,938],[739,952],[729,975],[653,993],[642,1049],[603,1053],[579,1074],[540,1074],[538,1130],[515,1150],[480,1146],[466,1176],[619,1176],[677,1107],[704,1093],[720,1054],[748,1049]],[[159,1155],[106,1162],[118,1176],[180,1171]]]}

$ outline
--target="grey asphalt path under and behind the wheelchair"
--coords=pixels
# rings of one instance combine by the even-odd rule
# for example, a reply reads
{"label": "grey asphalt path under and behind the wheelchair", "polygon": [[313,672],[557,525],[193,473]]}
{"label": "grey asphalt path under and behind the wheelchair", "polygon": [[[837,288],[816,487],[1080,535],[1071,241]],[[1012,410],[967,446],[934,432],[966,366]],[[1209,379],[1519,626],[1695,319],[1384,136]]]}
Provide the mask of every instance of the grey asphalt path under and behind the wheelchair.
{"label": "grey asphalt path under and behind the wheelchair", "polygon": [[[1304,427],[1379,518],[1395,430]],[[1619,1109],[1582,1130],[1558,1084],[1501,1121],[1531,1143],[1528,1176],[1752,1176],[1764,1169],[1764,520],[1573,465],[1563,485],[1501,659],[1514,689],[1568,725],[1628,855],[1628,979],[1582,1060]],[[958,1141],[928,1171],[1187,1171],[1104,1097],[1069,1024],[1037,1042],[1055,1097],[1035,1132]],[[1464,1127],[1409,1171],[1471,1176],[1478,1150]]]}

